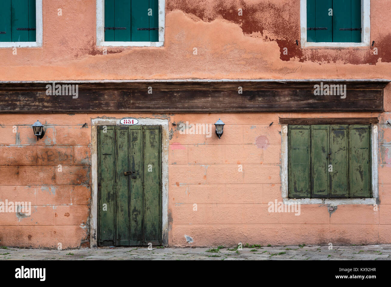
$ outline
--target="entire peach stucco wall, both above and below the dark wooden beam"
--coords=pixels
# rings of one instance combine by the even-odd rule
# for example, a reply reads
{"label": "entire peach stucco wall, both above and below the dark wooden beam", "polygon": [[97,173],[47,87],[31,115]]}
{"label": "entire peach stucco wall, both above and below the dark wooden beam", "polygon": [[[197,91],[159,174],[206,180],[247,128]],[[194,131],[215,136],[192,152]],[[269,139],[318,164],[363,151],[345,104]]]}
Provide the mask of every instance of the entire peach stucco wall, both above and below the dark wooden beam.
{"label": "entire peach stucco wall, both above and below the dark wooden beam", "polygon": [[[299,0],[166,0],[163,47],[104,54],[95,7],[94,0],[43,0],[43,46],[0,48],[0,81],[391,79],[391,0],[371,0],[374,46],[343,49],[300,47]],[[391,243],[390,95],[389,84],[384,113],[0,114],[0,201],[33,206],[28,217],[0,212],[0,245],[90,246],[90,123],[104,116],[169,119],[170,246]],[[379,119],[377,211],[339,205],[330,214],[326,205],[301,205],[300,216],[267,212],[269,201],[281,200],[278,117],[320,116]],[[172,125],[218,118],[226,123],[220,140]],[[37,119],[46,126],[39,141],[30,127]]]}

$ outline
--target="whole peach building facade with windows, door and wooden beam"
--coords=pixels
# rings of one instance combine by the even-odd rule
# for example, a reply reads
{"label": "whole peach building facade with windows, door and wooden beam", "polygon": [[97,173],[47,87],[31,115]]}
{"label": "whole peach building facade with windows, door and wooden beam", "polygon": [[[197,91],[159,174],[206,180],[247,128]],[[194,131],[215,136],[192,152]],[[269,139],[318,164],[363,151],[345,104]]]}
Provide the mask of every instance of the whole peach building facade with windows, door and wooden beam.
{"label": "whole peach building facade with windows, door and wooden beam", "polygon": [[5,2],[1,246],[391,243],[391,1]]}

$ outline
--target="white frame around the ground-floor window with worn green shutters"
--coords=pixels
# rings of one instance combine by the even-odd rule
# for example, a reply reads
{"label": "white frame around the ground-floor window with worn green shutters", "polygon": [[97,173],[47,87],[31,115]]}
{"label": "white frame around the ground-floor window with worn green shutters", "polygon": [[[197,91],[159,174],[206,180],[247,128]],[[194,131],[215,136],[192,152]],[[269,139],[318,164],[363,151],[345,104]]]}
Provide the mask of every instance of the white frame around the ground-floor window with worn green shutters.
{"label": "white frame around the ground-floor window with worn green shutters", "polygon": [[[379,197],[378,180],[378,124],[371,124],[371,148],[372,148],[372,197],[371,198],[289,198],[288,197],[288,133],[283,132],[284,126],[288,128],[289,124],[281,125],[281,196],[284,204],[298,202],[300,204],[330,204],[336,206],[340,204],[376,204]],[[287,130],[287,129],[286,129]]]}

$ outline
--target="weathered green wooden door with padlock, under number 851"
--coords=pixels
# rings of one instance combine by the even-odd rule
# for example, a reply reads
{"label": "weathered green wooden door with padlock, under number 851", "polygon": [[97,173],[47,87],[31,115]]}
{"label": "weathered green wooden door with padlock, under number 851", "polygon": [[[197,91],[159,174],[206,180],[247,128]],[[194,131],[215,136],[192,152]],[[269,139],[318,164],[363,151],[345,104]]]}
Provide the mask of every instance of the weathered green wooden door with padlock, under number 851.
{"label": "weathered green wooden door with padlock, under number 851", "polygon": [[99,246],[161,245],[160,126],[98,127],[98,147]]}

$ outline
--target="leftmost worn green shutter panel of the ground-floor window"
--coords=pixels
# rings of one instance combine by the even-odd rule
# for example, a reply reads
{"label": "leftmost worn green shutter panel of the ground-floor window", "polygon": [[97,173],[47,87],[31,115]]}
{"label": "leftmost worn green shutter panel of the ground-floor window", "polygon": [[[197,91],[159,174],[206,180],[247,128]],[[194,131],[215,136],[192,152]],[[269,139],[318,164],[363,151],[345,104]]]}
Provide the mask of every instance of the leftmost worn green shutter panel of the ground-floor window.
{"label": "leftmost worn green shutter panel of the ground-floor window", "polygon": [[310,127],[288,125],[288,196],[310,197]]}

